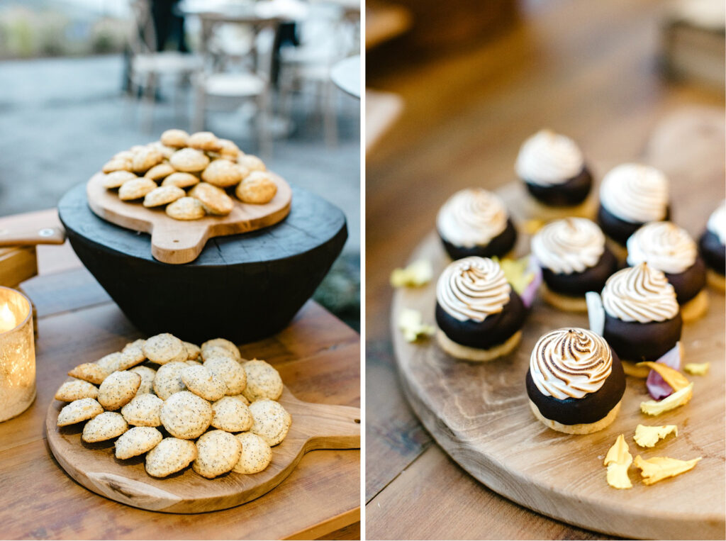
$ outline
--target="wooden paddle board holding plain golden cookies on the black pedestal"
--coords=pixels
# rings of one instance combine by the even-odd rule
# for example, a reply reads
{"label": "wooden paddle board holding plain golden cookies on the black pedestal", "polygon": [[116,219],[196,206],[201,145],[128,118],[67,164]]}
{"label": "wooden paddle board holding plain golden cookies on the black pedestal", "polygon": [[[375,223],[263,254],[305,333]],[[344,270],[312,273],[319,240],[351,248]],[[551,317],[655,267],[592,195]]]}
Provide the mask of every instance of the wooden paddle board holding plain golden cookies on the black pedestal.
{"label": "wooden paddle board holding plain golden cookies on the black pedestal", "polygon": [[227,216],[205,216],[198,220],[181,221],[170,218],[163,207],[146,208],[142,203],[128,203],[118,198],[115,190],[102,185],[104,174],[91,176],[86,184],[89,207],[94,213],[112,224],[149,233],[151,253],[159,261],[184,264],[194,261],[207,240],[212,237],[235,235],[268,227],[290,213],[293,192],[290,184],[274,173],[277,194],[264,205],[242,203],[236,198],[234,208]]}

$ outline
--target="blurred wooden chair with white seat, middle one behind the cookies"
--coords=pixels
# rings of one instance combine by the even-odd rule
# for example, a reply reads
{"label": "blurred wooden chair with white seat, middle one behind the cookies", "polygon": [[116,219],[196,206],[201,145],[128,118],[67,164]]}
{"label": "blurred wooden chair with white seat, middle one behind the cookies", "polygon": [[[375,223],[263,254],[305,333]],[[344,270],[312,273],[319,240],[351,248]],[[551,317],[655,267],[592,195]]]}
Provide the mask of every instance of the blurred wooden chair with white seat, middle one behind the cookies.
{"label": "blurred wooden chair with white seat, middle one behind the cookies", "polygon": [[277,18],[250,18],[229,23],[202,15],[205,70],[195,76],[192,130],[201,131],[209,110],[239,109],[252,102],[259,152],[272,152],[269,104],[270,76]]}

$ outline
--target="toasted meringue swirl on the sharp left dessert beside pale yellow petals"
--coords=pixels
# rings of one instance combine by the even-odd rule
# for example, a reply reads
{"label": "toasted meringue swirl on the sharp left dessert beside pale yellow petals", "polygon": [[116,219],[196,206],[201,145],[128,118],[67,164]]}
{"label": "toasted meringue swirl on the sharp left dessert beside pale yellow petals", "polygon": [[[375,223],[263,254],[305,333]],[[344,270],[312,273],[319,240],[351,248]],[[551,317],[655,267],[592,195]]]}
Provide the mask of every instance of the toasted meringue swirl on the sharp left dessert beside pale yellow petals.
{"label": "toasted meringue swirl on the sharp left dessert beside pale yellow petals", "polygon": [[444,269],[436,283],[436,301],[459,321],[482,322],[502,312],[511,290],[496,261],[471,256],[457,259]]}

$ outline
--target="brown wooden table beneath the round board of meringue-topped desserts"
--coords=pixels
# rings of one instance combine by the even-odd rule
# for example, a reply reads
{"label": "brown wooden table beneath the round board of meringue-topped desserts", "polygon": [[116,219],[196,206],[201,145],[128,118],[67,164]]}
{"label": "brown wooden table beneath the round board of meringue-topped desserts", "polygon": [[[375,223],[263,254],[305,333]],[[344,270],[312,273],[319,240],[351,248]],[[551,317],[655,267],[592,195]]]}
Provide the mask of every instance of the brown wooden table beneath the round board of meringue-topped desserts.
{"label": "brown wooden table beneath the round board of meringue-topped desserts", "polygon": [[[431,232],[449,195],[510,182],[519,145],[542,126],[574,137],[600,179],[648,152],[656,124],[683,107],[707,105],[706,114],[723,118],[722,94],[658,78],[658,9],[656,0],[532,2],[524,23],[490,44],[428,62],[391,57],[386,67],[368,66],[367,84],[407,104],[367,155],[369,539],[607,538],[510,503],[432,442],[399,389],[388,277]],[[690,216],[685,226],[696,232],[712,209],[689,205],[688,192],[711,190],[714,207],[723,198],[723,148],[702,163],[679,159],[673,155],[669,166],[677,216]]]}

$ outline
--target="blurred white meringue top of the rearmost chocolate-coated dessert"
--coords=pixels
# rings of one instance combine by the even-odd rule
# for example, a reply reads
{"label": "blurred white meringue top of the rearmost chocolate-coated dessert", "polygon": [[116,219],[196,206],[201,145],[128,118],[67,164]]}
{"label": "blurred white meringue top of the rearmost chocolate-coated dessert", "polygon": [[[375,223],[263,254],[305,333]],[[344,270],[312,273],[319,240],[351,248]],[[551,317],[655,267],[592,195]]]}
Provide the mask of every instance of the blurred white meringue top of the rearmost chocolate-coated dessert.
{"label": "blurred white meringue top of the rearmost chocolate-coated dessert", "polygon": [[579,175],[582,168],[584,157],[576,142],[546,129],[523,143],[515,164],[519,178],[538,186],[563,184]]}

